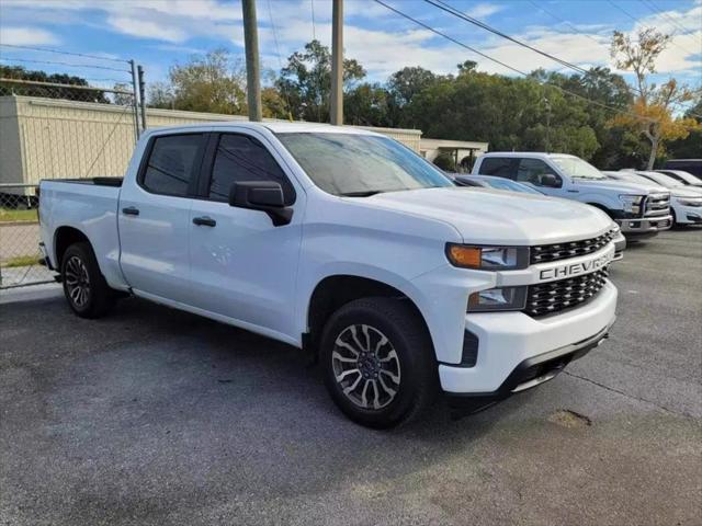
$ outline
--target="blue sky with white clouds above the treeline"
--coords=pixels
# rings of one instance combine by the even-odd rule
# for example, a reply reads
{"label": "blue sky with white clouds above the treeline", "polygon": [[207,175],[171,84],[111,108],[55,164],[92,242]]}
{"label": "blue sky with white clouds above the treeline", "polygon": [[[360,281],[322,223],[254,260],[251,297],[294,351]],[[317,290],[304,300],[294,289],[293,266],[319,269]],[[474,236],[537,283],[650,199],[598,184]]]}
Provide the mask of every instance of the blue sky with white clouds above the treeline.
{"label": "blue sky with white clouds above the treeline", "polygon": [[[440,11],[422,0],[384,0],[422,23],[522,71],[570,72],[553,60]],[[657,61],[657,79],[702,84],[702,0],[444,0],[503,33],[582,68],[609,66],[612,32],[655,27],[672,35]],[[331,0],[257,0],[262,67],[278,70],[313,36],[331,41]],[[387,10],[373,0],[344,1],[344,54],[358,59],[367,79],[384,82],[405,66],[439,73],[475,60],[482,71],[513,76]],[[58,49],[104,60],[33,52]],[[127,80],[134,59],[149,82],[192,55],[225,47],[244,55],[239,0],[1,0],[0,64],[71,72],[95,85]],[[64,65],[44,64],[60,61]],[[101,66],[88,68],[87,65]],[[112,68],[112,69],[104,69]]]}

